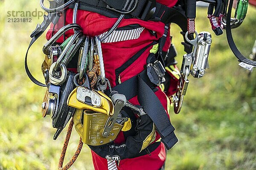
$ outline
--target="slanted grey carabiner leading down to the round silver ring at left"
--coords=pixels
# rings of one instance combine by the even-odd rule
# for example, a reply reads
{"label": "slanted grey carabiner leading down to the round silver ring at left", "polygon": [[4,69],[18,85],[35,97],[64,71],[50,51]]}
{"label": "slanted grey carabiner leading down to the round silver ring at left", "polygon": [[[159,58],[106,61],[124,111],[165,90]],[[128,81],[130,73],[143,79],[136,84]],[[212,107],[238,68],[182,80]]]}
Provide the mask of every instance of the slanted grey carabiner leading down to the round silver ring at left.
{"label": "slanted grey carabiner leading down to the round silver ring at left", "polygon": [[73,35],[73,37],[68,42],[67,46],[63,49],[60,57],[58,57],[58,59],[56,61],[56,65],[54,67],[55,71],[58,70],[59,66],[61,65],[61,62],[65,59],[67,52],[72,49],[72,46],[75,43],[76,39],[81,36],[82,36],[82,31],[76,31],[76,33]]}

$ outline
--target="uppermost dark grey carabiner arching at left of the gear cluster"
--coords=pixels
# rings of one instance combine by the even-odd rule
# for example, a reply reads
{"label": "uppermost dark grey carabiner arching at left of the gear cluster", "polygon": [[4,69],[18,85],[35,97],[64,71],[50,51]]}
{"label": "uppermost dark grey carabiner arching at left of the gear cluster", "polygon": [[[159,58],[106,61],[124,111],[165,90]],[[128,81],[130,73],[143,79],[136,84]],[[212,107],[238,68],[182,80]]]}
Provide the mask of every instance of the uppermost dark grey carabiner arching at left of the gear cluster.
{"label": "uppermost dark grey carabiner arching at left of the gear cluster", "polygon": [[78,29],[81,30],[81,26],[79,26],[78,24],[68,24],[67,26],[62,27],[58,32],[56,32],[56,34],[54,34],[49,41],[47,41],[47,43],[45,43],[44,47],[43,47],[43,52],[46,55],[49,55],[49,48],[54,44],[54,42],[56,42],[66,31],[70,30],[70,29]]}

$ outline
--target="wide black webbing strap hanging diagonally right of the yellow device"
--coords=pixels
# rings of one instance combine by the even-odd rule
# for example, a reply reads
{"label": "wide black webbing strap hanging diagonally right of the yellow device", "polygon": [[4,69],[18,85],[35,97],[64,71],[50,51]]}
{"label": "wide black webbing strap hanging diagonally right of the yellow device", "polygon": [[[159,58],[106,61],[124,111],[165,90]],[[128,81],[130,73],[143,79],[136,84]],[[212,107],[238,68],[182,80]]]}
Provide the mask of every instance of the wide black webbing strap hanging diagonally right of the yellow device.
{"label": "wide black webbing strap hanging diagonally right of the yellow device", "polygon": [[174,133],[175,128],[172,126],[163,105],[140,75],[116,85],[112,90],[124,94],[128,100],[138,96],[140,105],[143,106],[144,111],[156,125],[157,132],[162,138],[161,142],[165,144],[166,149],[171,149],[178,142]]}

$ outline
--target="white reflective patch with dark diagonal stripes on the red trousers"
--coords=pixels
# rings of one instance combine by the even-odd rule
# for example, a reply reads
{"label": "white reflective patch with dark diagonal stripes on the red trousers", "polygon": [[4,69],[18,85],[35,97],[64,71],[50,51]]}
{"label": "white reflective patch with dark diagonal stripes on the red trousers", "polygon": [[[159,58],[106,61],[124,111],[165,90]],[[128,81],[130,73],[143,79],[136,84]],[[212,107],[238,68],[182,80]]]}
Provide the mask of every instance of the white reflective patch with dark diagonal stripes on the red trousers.
{"label": "white reflective patch with dark diagonal stripes on the red trousers", "polygon": [[[129,30],[116,30],[106,38],[103,42],[118,42],[118,41],[125,41],[125,40],[134,40],[140,37],[140,34],[144,30],[144,27],[129,29]],[[102,38],[108,32],[104,32],[99,35],[99,38]]]}

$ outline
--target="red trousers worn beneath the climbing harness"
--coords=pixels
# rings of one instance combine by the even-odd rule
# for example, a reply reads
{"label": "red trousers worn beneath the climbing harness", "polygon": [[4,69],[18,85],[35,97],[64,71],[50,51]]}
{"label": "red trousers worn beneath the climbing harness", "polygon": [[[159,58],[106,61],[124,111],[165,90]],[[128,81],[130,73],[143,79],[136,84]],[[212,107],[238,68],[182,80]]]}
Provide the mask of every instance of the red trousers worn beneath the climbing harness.
{"label": "red trousers worn beneath the climbing harness", "polygon": [[[166,0],[167,1],[167,0]],[[159,1],[158,1],[159,2]],[[164,0],[160,3],[165,2]],[[167,6],[173,6],[177,0],[171,0]],[[72,23],[73,9],[68,9],[66,14],[65,24]],[[100,35],[106,31],[115,23],[115,18],[108,18],[97,13],[89,11],[78,11],[77,23],[83,28],[83,33],[90,37]],[[113,38],[110,42],[102,43],[102,54],[105,65],[105,74],[111,82],[112,86],[116,86],[117,82],[124,82],[131,77],[139,74],[143,71],[146,65],[146,59],[153,45],[150,45],[153,41],[158,40],[162,37],[164,33],[164,24],[160,22],[152,21],[142,21],[138,19],[123,19],[119,28],[124,26],[129,26],[132,24],[139,24],[140,28],[134,28],[131,31],[131,37],[122,37],[121,34],[124,34],[125,31],[119,32],[119,37]],[[55,31],[58,31],[59,28],[63,26],[63,20],[58,22],[55,26]],[[52,28],[52,27],[51,27]],[[149,30],[155,31],[156,35],[150,33]],[[67,31],[65,34],[67,37],[73,34],[73,30]],[[116,34],[118,34],[116,32]],[[47,39],[52,35],[52,29],[47,33]],[[132,40],[124,40],[124,39]],[[167,40],[168,42],[169,39]],[[58,42],[63,42],[63,39],[60,38]],[[133,57],[138,51],[145,48],[145,46],[150,45],[145,51],[138,57],[133,63],[127,66],[124,71],[116,74],[116,69],[120,68],[125,62],[127,62],[131,57]],[[166,50],[168,49],[169,44],[166,45]],[[169,99],[166,94],[160,90],[155,93],[160,99],[160,102],[163,104],[163,107],[167,112],[167,103]],[[133,104],[139,104],[137,97],[129,100]],[[157,133],[156,141],[160,139],[159,134]],[[124,136],[119,133],[115,143],[125,142]],[[107,159],[102,158],[92,151],[93,164],[95,170],[108,170]],[[118,162],[118,170],[159,170],[166,159],[166,151],[164,145],[161,143],[156,150],[151,152],[150,155],[140,156],[134,159],[124,159]]]}

